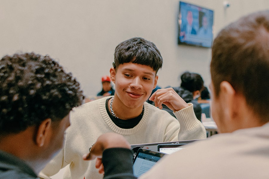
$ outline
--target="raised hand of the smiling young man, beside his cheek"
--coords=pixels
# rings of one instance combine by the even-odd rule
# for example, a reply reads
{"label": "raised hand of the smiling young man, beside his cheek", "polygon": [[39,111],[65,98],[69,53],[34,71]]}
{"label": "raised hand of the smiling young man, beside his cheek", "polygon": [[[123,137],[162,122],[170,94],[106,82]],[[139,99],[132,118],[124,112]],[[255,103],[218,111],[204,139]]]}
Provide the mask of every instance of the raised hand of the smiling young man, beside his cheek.
{"label": "raised hand of the smiling young man, beside his cheek", "polygon": [[162,109],[162,104],[165,104],[173,111],[179,111],[189,105],[178,95],[173,88],[158,89],[151,97],[150,101],[154,101],[155,106]]}

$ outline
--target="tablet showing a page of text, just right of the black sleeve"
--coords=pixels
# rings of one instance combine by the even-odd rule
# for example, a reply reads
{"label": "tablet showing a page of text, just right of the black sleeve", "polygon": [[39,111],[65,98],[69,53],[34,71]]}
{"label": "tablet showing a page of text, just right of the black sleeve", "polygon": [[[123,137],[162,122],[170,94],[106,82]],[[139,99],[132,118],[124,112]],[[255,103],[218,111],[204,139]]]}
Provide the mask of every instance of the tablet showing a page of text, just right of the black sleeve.
{"label": "tablet showing a page of text, just right of the black sleeve", "polygon": [[143,173],[151,169],[164,155],[164,153],[150,149],[138,149],[133,164],[134,175],[140,177]]}

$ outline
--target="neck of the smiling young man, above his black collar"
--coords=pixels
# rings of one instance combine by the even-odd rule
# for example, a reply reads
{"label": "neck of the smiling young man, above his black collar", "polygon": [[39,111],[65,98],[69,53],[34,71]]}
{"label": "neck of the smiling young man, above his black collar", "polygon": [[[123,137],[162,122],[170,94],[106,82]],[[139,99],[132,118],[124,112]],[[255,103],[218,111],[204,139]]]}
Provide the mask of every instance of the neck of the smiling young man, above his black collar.
{"label": "neck of the smiling young man, above his black collar", "polygon": [[[108,101],[108,104],[111,103],[111,99]],[[123,119],[123,120],[128,120],[128,119],[138,117],[142,113],[143,105],[139,107],[127,107],[120,101],[119,98],[114,96],[114,100],[112,102],[112,108],[113,108],[114,114],[118,118]],[[109,111],[111,112],[110,108],[109,108]]]}

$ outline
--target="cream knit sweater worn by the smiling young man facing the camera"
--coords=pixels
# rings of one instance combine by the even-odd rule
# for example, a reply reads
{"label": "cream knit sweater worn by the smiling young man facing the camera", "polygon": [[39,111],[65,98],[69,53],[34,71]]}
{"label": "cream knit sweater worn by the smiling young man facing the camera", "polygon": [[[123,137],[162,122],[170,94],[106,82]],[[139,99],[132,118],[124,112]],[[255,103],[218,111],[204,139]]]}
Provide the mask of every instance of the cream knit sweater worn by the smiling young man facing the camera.
{"label": "cream knit sweater worn by the smiling young man facing the camera", "polygon": [[166,141],[183,141],[205,139],[206,131],[195,117],[193,105],[175,112],[176,118],[165,110],[144,103],[144,114],[141,121],[132,129],[116,126],[106,111],[104,97],[70,112],[71,126],[66,131],[65,145],[61,152],[42,170],[41,178],[56,174],[61,168],[70,164],[64,179],[98,179],[94,161],[83,161],[82,155],[89,152],[97,138],[106,132],[123,135],[130,144],[155,143]]}

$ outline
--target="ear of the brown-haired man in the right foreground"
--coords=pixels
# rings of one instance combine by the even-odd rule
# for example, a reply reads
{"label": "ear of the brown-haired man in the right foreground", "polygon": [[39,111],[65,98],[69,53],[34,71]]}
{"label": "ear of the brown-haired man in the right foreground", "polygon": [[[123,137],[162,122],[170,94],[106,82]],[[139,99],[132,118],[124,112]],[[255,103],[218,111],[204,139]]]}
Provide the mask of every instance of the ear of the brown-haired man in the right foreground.
{"label": "ear of the brown-haired man in the right foreground", "polygon": [[227,119],[233,119],[236,107],[235,105],[237,104],[236,91],[229,82],[222,81],[220,84],[219,95],[222,109],[224,109],[224,114],[227,116]]}

